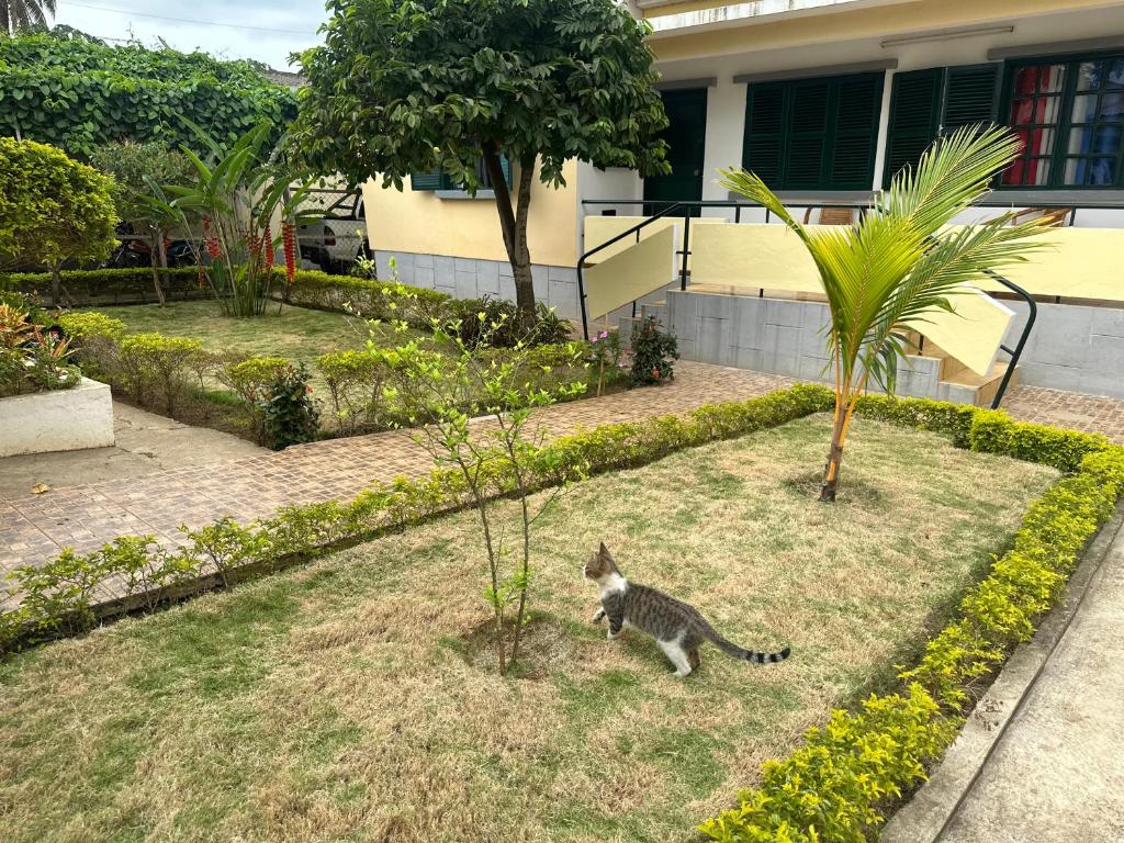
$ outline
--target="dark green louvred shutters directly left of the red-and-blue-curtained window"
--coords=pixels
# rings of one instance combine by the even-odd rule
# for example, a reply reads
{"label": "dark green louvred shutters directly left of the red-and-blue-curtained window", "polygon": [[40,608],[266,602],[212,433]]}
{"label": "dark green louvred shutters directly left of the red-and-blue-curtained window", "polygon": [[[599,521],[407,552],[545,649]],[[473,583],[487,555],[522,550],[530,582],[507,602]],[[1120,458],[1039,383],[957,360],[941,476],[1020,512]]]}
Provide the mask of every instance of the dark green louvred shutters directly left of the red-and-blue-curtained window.
{"label": "dark green louvred shutters directly left of the red-and-blue-curtained window", "polygon": [[961,126],[994,123],[998,64],[930,67],[895,73],[886,137],[883,184],[907,164],[916,164],[941,134]]}

